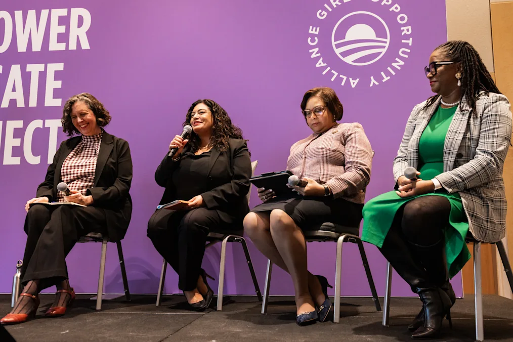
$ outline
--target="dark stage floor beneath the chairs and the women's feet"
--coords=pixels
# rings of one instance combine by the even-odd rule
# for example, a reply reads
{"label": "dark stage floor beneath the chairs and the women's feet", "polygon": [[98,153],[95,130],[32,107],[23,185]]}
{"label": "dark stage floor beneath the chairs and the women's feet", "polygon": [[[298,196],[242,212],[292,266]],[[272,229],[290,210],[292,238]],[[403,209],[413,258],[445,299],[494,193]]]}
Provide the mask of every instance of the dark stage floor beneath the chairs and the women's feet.
{"label": "dark stage floor beneath the chairs and the women's feet", "polygon": [[[165,296],[155,307],[155,296],[134,295],[104,300],[101,311],[95,301],[78,295],[69,312],[59,318],[44,318],[53,295],[41,295],[35,319],[7,330],[18,342],[25,341],[409,341],[406,326],[420,310],[414,298],[392,298],[390,327],[381,325],[371,298],[342,298],[340,324],[295,324],[292,297],[271,297],[267,315],[261,315],[256,297],[225,297],[223,311],[203,313],[186,310],[183,296]],[[383,298],[380,298],[383,304]],[[212,307],[215,305],[215,298]],[[513,300],[494,295],[483,298],[485,340],[513,341]],[[10,311],[10,295],[0,295],[0,313]],[[330,319],[332,318],[332,312]],[[458,299],[451,311],[453,329],[444,322],[444,341],[473,341],[475,337],[472,296]]]}

